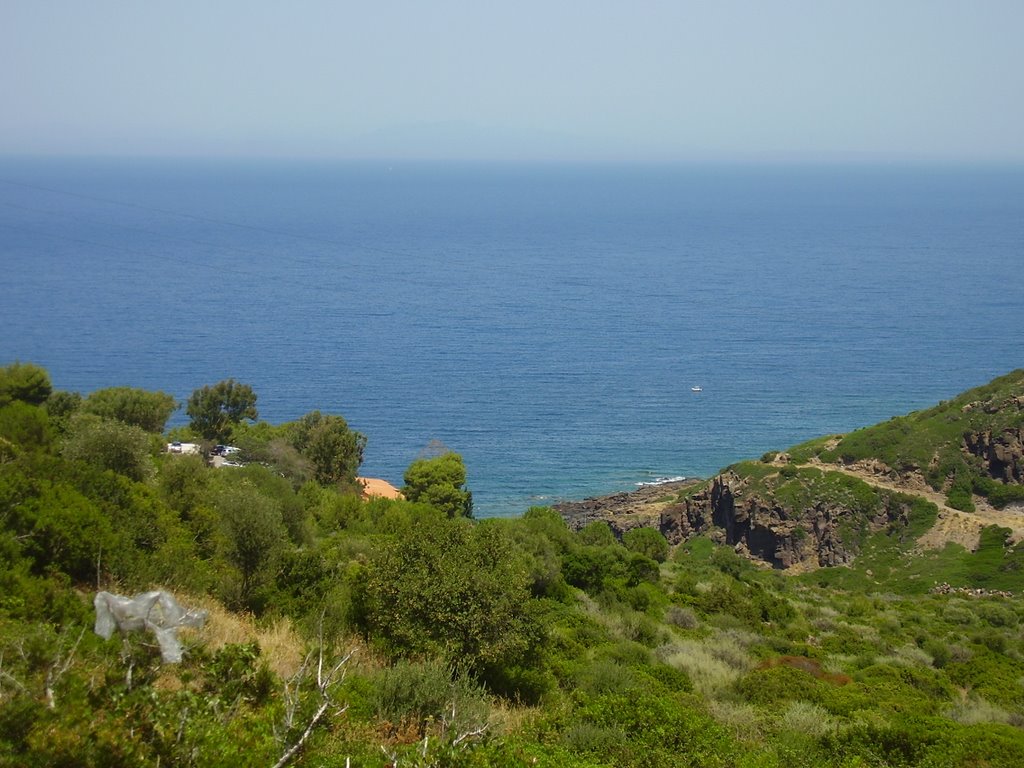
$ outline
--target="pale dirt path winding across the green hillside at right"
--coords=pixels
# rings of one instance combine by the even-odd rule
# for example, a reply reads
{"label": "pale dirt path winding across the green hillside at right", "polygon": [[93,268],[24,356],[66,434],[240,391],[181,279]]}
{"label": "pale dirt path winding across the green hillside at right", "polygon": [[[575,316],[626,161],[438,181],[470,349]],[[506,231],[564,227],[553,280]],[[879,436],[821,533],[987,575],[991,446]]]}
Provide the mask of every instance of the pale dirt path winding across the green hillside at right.
{"label": "pale dirt path winding across the green hillside at right", "polygon": [[879,475],[878,472],[863,467],[826,464],[816,458],[803,466],[812,466],[829,472],[842,472],[884,490],[919,496],[932,502],[939,508],[939,515],[935,525],[918,540],[918,546],[921,549],[942,549],[948,542],[954,542],[974,552],[978,549],[981,541],[981,529],[987,525],[1000,525],[1010,528],[1013,531],[1011,540],[1014,543],[1024,541],[1024,512],[995,509],[981,497],[974,497],[974,512],[962,512],[946,506],[945,494],[932,489],[924,478],[915,477],[907,482],[896,482],[890,477]]}

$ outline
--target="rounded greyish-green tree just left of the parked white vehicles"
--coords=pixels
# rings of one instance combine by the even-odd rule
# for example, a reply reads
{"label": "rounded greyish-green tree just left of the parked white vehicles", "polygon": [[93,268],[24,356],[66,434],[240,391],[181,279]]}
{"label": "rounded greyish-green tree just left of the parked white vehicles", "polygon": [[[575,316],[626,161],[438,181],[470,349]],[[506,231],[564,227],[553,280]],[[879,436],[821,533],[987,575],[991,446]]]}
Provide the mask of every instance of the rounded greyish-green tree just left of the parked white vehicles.
{"label": "rounded greyish-green tree just left of the parked white vehicles", "polygon": [[66,459],[111,469],[133,480],[145,480],[153,474],[150,436],[139,427],[92,414],[72,419],[62,453]]}

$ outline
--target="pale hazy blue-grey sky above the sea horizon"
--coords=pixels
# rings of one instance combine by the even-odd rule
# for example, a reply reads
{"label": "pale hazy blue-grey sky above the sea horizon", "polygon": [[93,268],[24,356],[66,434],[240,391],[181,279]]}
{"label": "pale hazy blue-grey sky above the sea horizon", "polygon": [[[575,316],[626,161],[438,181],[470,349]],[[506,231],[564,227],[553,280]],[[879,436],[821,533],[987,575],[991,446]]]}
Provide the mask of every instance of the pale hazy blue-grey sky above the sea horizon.
{"label": "pale hazy blue-grey sky above the sea horizon", "polygon": [[1024,162],[1024,0],[0,0],[0,154]]}

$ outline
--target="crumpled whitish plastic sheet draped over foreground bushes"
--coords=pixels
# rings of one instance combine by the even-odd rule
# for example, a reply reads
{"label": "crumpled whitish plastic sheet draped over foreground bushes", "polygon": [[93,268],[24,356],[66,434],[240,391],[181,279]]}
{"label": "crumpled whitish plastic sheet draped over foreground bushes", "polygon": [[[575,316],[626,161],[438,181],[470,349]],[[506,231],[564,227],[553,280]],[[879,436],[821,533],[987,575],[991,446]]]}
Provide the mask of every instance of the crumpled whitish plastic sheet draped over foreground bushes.
{"label": "crumpled whitish plastic sheet draped over foreground bushes", "polygon": [[202,627],[206,622],[205,610],[185,610],[174,595],[162,590],[134,597],[98,592],[93,604],[96,606],[97,635],[110,640],[114,630],[126,633],[147,630],[156,636],[161,658],[167,664],[181,660],[178,628]]}

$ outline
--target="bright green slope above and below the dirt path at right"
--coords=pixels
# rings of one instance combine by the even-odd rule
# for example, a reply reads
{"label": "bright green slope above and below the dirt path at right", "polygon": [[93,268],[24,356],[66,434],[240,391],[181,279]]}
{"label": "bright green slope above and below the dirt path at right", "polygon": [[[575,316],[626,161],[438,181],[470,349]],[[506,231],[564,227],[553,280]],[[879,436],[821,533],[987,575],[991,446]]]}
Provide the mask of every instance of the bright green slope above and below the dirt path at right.
{"label": "bright green slope above and below the dirt path at right", "polygon": [[[934,504],[912,494],[894,494],[872,486],[842,472],[796,466],[813,459],[840,464],[877,459],[900,471],[921,470],[934,487],[966,482],[980,495],[994,488],[996,502],[1024,498],[1020,485],[986,481],[980,464],[966,457],[961,449],[967,432],[996,433],[1024,425],[1024,411],[1012,403],[1022,395],[1024,371],[1014,371],[934,408],[848,435],[825,435],[796,445],[787,452],[790,466],[772,464],[775,455],[771,454],[762,461],[740,462],[729,469],[743,478],[744,494],[760,496],[780,507],[799,511],[824,504],[849,511],[840,532],[845,542],[860,548],[860,556],[850,567],[803,577],[808,583],[900,594],[923,594],[942,582],[1024,592],[1024,551],[1018,551],[1008,541],[1010,531],[1006,528],[985,528],[977,552],[955,544],[921,552],[915,540],[935,522]],[[693,493],[694,488],[687,489],[688,495]],[[870,532],[867,522],[893,504],[908,506],[907,519]]]}

